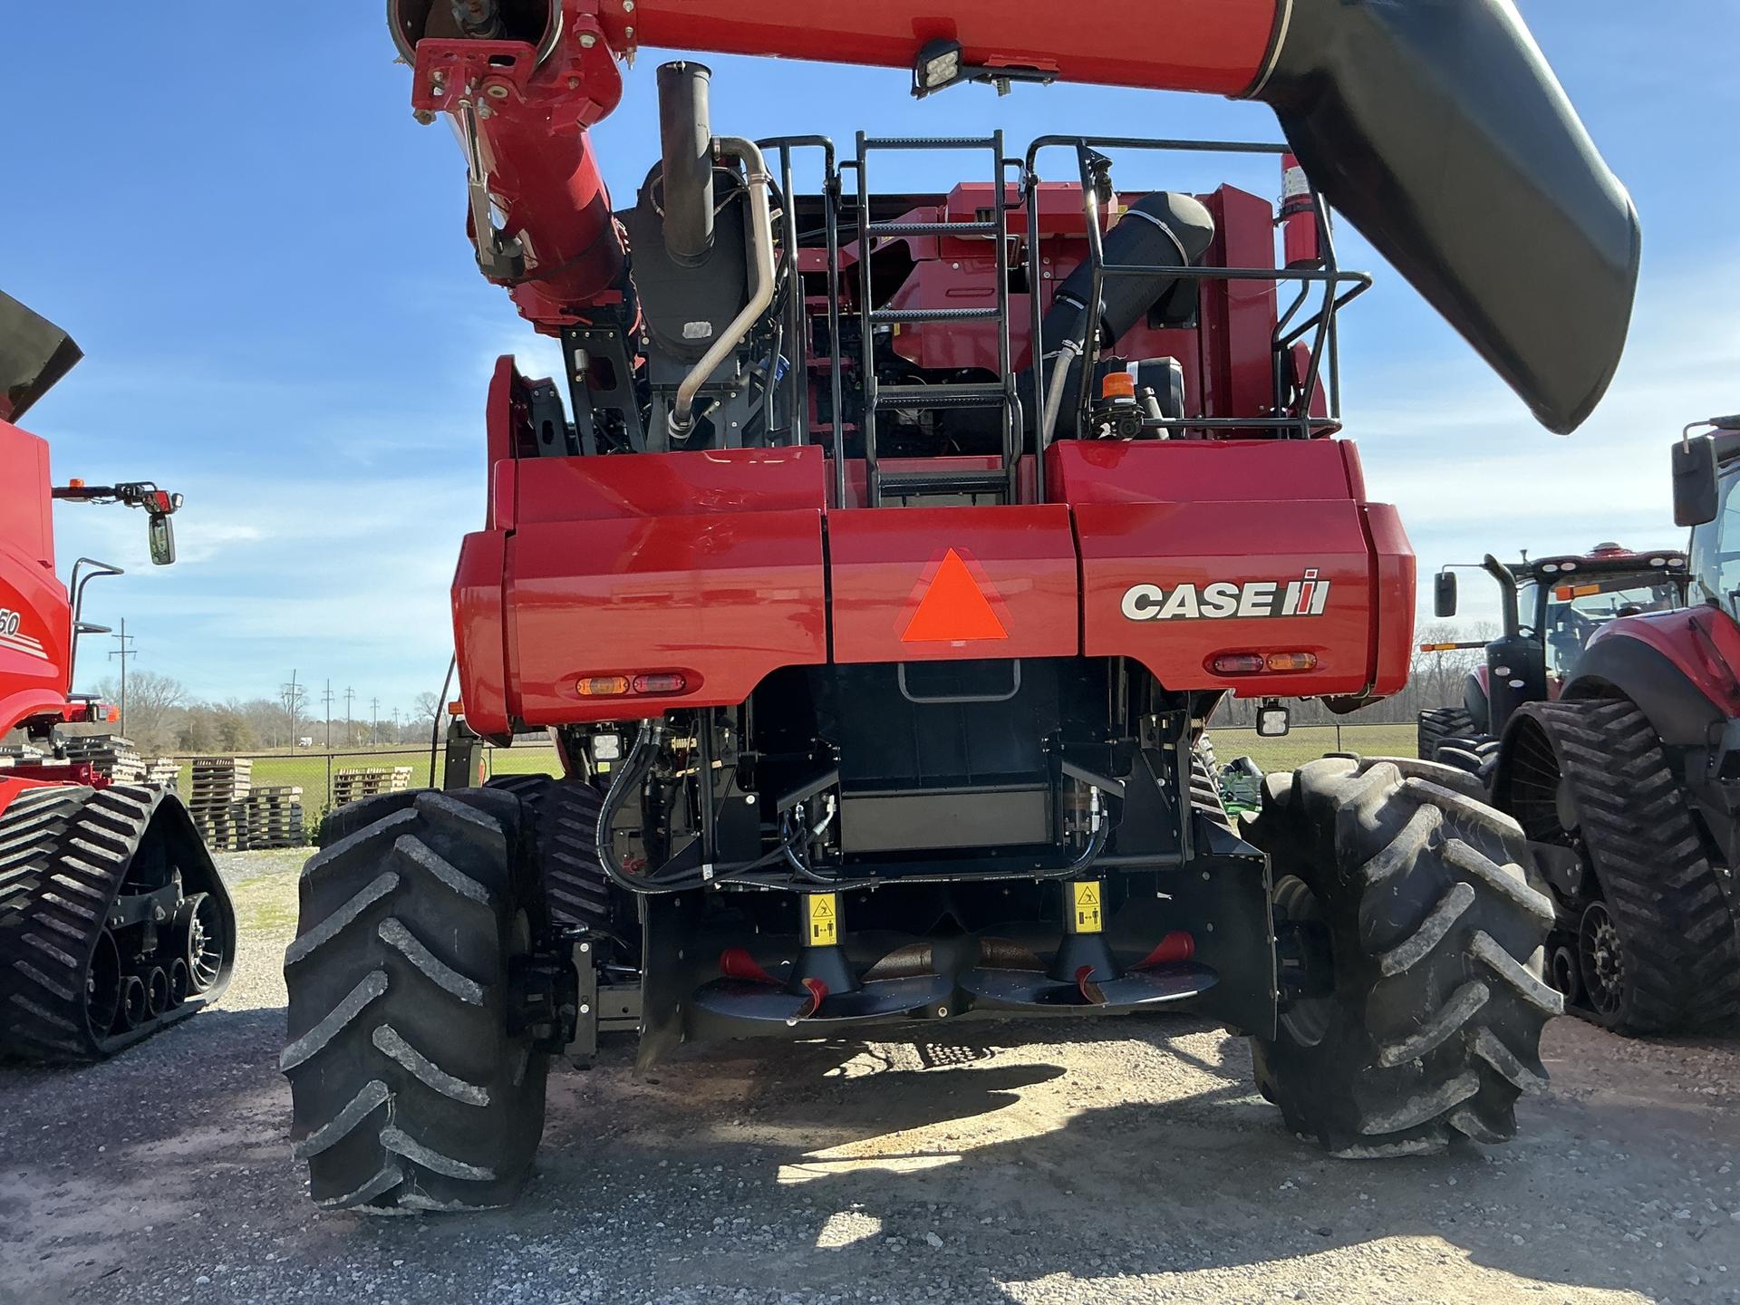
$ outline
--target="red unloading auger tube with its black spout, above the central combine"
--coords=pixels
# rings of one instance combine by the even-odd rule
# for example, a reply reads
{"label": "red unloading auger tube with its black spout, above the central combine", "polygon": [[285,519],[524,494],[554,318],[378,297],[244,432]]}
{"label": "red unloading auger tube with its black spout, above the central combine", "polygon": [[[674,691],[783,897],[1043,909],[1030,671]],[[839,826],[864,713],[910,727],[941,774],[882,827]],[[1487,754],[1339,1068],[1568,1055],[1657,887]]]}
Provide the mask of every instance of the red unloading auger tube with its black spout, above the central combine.
{"label": "red unloading auger tube with its black spout, above the central combine", "polygon": [[619,57],[665,47],[915,68],[929,37],[914,33],[934,31],[959,45],[938,66],[962,80],[1270,104],[1328,202],[1549,430],[1589,416],[1625,345],[1637,214],[1510,0],[1107,0],[1093,23],[1060,23],[1054,5],[1034,0],[971,7],[947,23],[910,2],[480,9],[524,42],[534,70],[512,59],[492,68],[489,57],[508,57],[501,47],[468,56],[449,0],[388,5],[393,38],[418,68],[418,111],[487,108],[477,130],[505,226],[475,238],[480,249],[501,238],[531,251],[520,275],[491,277],[552,332],[576,308],[619,294],[623,247],[585,130],[621,99]]}

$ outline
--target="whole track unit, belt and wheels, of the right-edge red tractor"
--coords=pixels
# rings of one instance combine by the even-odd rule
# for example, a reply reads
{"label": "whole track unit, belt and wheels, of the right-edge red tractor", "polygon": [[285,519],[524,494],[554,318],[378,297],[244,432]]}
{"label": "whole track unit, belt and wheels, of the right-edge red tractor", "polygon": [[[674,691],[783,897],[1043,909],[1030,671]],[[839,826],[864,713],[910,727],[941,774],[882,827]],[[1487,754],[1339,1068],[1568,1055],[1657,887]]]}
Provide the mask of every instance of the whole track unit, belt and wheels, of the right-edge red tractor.
{"label": "whole track unit, belt and wheels, of the right-edge red tractor", "polygon": [[1524,833],[1576,851],[1596,884],[1566,903],[1573,1009],[1620,1034],[1740,1014],[1735,915],[1650,719],[1627,701],[1529,703],[1502,771],[1496,797]]}

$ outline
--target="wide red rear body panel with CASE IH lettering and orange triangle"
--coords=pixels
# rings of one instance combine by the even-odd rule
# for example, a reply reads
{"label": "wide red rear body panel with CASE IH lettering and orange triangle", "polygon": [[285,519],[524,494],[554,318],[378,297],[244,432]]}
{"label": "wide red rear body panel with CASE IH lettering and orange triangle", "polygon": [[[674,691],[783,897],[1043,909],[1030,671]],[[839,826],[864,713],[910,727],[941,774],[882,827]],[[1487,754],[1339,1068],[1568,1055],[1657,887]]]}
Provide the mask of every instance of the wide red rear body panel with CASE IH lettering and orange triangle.
{"label": "wide red rear body panel with CASE IH lettering and orange triangle", "polygon": [[[508,392],[496,386],[501,402]],[[1046,470],[1041,506],[861,510],[828,506],[832,468],[816,447],[503,458],[499,529],[466,538],[454,581],[466,713],[480,733],[506,734],[726,706],[781,666],[830,658],[1121,656],[1171,691],[1288,698],[1394,693],[1406,680],[1413,553],[1394,510],[1364,501],[1352,445],[1068,440]],[[908,637],[950,550],[994,619],[976,621],[957,574],[950,593],[980,633]],[[1195,586],[1199,611],[1155,619],[1147,590],[1131,600],[1138,586],[1168,597]],[[1230,614],[1209,614],[1225,606],[1211,586],[1239,590]],[[1251,651],[1312,652],[1317,665],[1209,668]],[[661,672],[686,689],[576,687]]]}

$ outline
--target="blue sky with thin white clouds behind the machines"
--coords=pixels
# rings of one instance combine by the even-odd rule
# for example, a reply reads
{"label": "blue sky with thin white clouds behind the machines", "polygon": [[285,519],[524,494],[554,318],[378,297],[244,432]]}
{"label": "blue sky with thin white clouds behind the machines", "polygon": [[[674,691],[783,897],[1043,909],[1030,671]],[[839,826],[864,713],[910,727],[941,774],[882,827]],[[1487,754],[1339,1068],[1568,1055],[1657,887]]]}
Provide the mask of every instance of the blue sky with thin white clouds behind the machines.
{"label": "blue sky with thin white clouds behind the machines", "polygon": [[[1489,548],[1674,543],[1667,445],[1684,421],[1740,407],[1740,5],[1519,7],[1637,200],[1643,289],[1611,395],[1561,440],[1345,242],[1345,263],[1380,273],[1343,317],[1348,433],[1422,572]],[[92,590],[90,618],[125,616],[136,665],[200,696],[270,696],[294,668],[386,713],[445,670],[458,539],[482,520],[492,360],[517,351],[545,372],[553,355],[477,275],[458,148],[411,120],[378,3],[184,9],[204,26],[94,3],[9,23],[14,52],[77,50],[14,59],[0,136],[0,285],[87,353],[30,425],[59,478],[155,478],[188,498],[181,562],[164,571],[144,562],[137,513],[57,508],[63,569],[80,553],[127,566]],[[658,150],[658,57],[642,54],[593,132],[618,204]],[[715,130],[738,136],[1277,137],[1263,106],[1202,96],[974,87],[914,103],[898,71],[708,63]],[[1267,164],[1218,172],[1275,190]],[[1476,619],[1484,588],[1465,586]]]}

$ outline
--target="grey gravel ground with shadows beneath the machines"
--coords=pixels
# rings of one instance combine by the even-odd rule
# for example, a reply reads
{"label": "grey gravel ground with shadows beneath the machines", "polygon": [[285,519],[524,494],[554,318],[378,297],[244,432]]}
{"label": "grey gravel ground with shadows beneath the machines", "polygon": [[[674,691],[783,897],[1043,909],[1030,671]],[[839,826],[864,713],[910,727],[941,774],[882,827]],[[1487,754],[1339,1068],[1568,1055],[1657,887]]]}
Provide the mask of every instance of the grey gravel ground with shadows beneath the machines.
{"label": "grey gravel ground with shadows beneath the machines", "polygon": [[216,1011],[0,1068],[0,1302],[1740,1302],[1740,1035],[1547,1034],[1521,1140],[1348,1164],[1180,1020],[552,1077],[512,1215],[317,1215],[285,1143],[296,854],[228,858]]}

